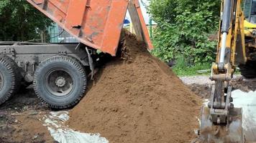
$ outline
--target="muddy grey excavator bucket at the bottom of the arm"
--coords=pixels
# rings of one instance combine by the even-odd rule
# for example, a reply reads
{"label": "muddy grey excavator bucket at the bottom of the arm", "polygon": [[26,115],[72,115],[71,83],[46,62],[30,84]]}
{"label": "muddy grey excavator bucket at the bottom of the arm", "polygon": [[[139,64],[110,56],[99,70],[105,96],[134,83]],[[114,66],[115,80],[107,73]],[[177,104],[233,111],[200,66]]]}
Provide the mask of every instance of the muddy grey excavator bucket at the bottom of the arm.
{"label": "muddy grey excavator bucket at the bottom of the arm", "polygon": [[201,108],[200,138],[208,143],[244,143],[242,131],[242,109],[234,108],[229,111],[229,125],[214,125],[211,122],[210,109]]}

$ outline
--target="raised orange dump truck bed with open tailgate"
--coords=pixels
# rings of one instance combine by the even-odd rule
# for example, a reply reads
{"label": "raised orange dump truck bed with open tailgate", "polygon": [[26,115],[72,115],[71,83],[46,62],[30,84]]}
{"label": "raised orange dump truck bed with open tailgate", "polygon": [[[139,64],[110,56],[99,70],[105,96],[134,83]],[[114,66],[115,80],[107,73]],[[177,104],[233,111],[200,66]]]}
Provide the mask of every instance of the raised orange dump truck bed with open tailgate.
{"label": "raised orange dump truck bed with open tailgate", "polygon": [[138,0],[27,0],[69,34],[115,56],[124,18],[129,13],[138,39],[152,49]]}

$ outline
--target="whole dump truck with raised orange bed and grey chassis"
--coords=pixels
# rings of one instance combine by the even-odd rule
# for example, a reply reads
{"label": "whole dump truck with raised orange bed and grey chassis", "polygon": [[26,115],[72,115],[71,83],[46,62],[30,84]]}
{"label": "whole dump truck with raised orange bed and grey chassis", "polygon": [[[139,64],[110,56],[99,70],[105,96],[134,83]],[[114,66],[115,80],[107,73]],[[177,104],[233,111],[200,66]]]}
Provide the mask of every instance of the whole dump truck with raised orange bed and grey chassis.
{"label": "whole dump truck with raised orange bed and grey chassis", "polygon": [[33,84],[55,109],[77,104],[95,73],[99,52],[116,56],[127,9],[137,38],[152,49],[138,0],[27,0],[79,43],[0,42],[0,104]]}

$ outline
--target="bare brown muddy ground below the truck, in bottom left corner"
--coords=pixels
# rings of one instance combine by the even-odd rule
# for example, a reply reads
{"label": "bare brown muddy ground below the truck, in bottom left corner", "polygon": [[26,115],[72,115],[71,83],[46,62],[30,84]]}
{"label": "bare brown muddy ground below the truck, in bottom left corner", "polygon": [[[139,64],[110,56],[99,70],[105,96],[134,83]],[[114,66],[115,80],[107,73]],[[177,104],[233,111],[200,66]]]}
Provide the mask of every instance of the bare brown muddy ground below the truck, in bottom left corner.
{"label": "bare brown muddy ground below the truck, in bottom left corner", "polygon": [[50,109],[35,96],[32,88],[22,89],[0,107],[0,142],[49,142],[52,137],[40,118]]}

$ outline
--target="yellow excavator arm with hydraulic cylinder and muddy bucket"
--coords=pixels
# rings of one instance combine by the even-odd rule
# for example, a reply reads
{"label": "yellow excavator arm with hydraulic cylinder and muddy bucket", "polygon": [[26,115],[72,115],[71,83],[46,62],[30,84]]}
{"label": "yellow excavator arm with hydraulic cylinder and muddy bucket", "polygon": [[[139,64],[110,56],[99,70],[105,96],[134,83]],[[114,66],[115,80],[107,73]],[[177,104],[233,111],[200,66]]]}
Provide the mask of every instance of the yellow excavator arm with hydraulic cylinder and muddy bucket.
{"label": "yellow excavator arm with hydraulic cylinder and muddy bucket", "polygon": [[215,82],[208,107],[201,110],[201,137],[205,142],[244,142],[242,109],[232,104],[232,79],[236,66],[247,61],[242,0],[223,0],[216,61],[210,79]]}

